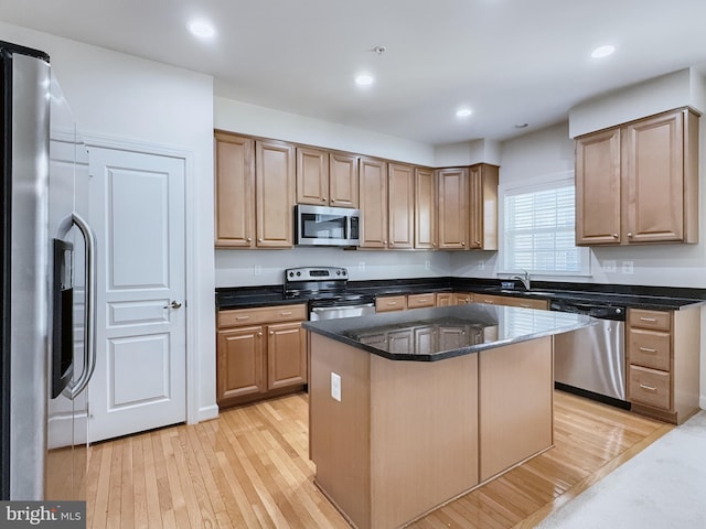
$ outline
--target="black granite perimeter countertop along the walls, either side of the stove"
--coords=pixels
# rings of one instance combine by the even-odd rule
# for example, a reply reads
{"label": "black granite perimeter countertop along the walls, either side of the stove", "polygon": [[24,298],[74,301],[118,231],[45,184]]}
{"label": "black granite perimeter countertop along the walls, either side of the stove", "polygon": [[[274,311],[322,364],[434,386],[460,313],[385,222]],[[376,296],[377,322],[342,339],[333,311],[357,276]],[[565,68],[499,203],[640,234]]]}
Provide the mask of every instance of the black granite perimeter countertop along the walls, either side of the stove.
{"label": "black granite perimeter countertop along the walls, either side of the stove", "polygon": [[[349,290],[366,292],[375,296],[456,291],[536,298],[549,301],[600,301],[633,309],[657,311],[677,311],[706,303],[706,289],[533,281],[532,288],[527,292],[524,291],[520,282],[511,281],[513,289],[502,288],[504,282],[500,279],[420,278],[349,281],[347,287]],[[292,303],[301,303],[301,300],[285,299],[281,284],[216,289],[216,309],[218,310]]]}

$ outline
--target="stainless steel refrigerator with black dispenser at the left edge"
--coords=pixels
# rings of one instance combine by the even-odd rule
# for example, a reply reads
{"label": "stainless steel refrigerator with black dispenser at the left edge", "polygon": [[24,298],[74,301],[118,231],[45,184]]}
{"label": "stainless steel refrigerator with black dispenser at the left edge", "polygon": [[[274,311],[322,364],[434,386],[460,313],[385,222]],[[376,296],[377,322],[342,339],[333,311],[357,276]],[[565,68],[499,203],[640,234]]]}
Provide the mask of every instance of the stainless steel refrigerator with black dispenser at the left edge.
{"label": "stainless steel refrigerator with black dispenser at the left edge", "polygon": [[0,42],[0,499],[85,499],[88,153],[46,54]]}

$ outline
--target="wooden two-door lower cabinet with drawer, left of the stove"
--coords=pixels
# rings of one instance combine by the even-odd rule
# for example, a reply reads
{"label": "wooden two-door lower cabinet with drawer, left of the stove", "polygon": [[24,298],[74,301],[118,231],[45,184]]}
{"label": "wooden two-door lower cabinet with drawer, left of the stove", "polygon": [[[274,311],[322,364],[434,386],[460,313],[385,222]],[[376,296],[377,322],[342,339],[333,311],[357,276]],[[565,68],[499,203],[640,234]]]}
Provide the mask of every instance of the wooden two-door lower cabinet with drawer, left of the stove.
{"label": "wooden two-door lower cabinet with drawer, left of the stove", "polygon": [[297,391],[307,384],[307,305],[218,313],[216,401],[221,408]]}

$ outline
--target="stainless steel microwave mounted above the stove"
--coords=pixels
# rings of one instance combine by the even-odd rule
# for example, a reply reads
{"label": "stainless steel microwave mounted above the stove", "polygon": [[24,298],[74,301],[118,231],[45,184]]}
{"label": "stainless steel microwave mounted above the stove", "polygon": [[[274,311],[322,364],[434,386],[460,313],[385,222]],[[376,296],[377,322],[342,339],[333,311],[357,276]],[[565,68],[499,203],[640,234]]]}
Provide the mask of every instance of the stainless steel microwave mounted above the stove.
{"label": "stainless steel microwave mounted above the stove", "polygon": [[357,246],[361,210],[347,207],[295,206],[298,246]]}

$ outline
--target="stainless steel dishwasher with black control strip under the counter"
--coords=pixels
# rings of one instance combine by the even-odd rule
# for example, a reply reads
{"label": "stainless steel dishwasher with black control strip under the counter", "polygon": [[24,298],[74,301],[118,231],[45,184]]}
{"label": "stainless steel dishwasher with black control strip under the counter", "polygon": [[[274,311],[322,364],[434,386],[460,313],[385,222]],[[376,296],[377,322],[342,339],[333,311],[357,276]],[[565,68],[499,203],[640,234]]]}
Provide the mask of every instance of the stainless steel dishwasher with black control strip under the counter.
{"label": "stainless steel dishwasher with black control strip under the counter", "polygon": [[557,389],[629,409],[625,401],[625,307],[555,300],[549,310],[585,314],[599,322],[554,337]]}

